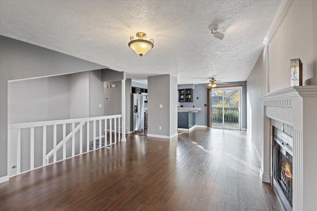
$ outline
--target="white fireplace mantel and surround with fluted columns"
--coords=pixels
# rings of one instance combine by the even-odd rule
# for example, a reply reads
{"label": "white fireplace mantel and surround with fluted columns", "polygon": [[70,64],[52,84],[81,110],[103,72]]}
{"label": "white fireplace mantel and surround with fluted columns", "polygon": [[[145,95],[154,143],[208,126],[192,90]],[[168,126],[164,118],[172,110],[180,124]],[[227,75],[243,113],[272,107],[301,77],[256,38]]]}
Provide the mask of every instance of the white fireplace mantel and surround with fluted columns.
{"label": "white fireplace mantel and surround with fluted columns", "polygon": [[[260,177],[270,182],[270,119],[293,127],[293,211],[317,207],[317,85],[268,93],[263,102]],[[315,167],[315,168],[314,168]]]}

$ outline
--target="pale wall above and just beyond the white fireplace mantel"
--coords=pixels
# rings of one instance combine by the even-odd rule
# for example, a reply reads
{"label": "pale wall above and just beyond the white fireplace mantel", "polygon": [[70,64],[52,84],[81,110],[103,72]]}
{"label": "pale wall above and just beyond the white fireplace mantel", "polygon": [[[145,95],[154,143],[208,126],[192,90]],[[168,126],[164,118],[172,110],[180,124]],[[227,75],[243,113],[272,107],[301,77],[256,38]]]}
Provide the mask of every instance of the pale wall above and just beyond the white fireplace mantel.
{"label": "pale wall above and just beyond the white fireplace mantel", "polygon": [[[303,62],[303,83],[317,84],[316,14],[317,1],[295,1],[269,44],[269,53],[267,48],[263,49],[247,80],[248,132],[260,156],[263,156],[261,155],[263,145],[259,145],[259,139],[264,137],[263,105],[257,98],[266,94],[266,86],[269,92],[290,87],[289,68],[290,59],[293,58],[300,58]],[[297,22],[306,24],[297,24]],[[293,31],[294,28],[298,29],[296,33]],[[285,68],[279,68],[280,66]],[[269,75],[267,81],[266,70]]]}

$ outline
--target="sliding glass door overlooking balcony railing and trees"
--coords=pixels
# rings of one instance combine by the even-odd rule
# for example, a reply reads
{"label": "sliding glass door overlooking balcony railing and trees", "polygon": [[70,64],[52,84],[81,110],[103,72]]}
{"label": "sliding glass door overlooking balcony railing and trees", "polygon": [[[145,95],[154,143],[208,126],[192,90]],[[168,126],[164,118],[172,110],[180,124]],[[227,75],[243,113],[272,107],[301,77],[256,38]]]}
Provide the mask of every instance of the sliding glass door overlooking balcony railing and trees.
{"label": "sliding glass door overlooking balcony railing and trees", "polygon": [[211,127],[240,129],[241,89],[211,90]]}

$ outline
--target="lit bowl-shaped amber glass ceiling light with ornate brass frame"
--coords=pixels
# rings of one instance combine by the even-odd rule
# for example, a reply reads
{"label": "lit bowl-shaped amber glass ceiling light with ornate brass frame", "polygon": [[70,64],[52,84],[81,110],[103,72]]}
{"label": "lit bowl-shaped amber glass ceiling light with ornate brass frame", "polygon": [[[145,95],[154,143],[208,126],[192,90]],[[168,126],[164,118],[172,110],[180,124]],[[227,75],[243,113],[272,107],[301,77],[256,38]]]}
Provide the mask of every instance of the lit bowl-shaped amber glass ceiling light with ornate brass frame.
{"label": "lit bowl-shaped amber glass ceiling light with ornate brass frame", "polygon": [[147,35],[144,32],[138,32],[136,34],[136,37],[138,40],[134,40],[134,38],[130,37],[129,47],[133,49],[137,54],[139,54],[141,57],[146,54],[149,50],[151,50],[154,47],[154,40],[144,40],[144,38],[147,37]]}

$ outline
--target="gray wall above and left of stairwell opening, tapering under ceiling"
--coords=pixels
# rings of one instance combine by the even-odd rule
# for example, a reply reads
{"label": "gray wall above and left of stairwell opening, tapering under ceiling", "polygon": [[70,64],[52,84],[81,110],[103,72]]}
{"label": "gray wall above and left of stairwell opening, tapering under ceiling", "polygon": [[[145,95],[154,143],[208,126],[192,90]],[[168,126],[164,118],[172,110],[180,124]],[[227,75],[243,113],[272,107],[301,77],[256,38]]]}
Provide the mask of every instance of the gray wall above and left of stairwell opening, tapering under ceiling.
{"label": "gray wall above and left of stairwell opening, tapering under ceiling", "polygon": [[7,175],[7,82],[104,68],[93,62],[0,36],[0,177]]}

